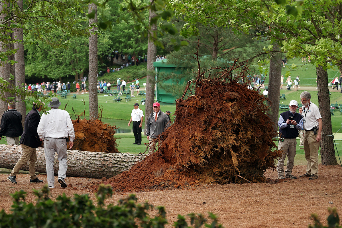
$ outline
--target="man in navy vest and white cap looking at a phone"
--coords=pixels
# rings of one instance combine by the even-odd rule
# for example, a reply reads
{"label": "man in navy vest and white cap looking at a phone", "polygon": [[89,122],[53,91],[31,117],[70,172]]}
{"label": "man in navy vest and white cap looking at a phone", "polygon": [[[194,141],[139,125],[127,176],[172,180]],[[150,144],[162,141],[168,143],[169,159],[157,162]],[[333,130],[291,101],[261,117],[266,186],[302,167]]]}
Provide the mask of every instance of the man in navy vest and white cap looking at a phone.
{"label": "man in navy vest and white cap looking at a phone", "polygon": [[[289,111],[280,114],[278,120],[280,140],[278,149],[284,150],[282,157],[277,164],[277,172],[279,179],[291,178],[297,179],[292,175],[294,156],[296,155],[297,137],[299,131],[303,128],[303,117],[296,112],[298,103],[291,100],[289,104]],[[284,161],[287,155],[287,165],[284,175]]]}

